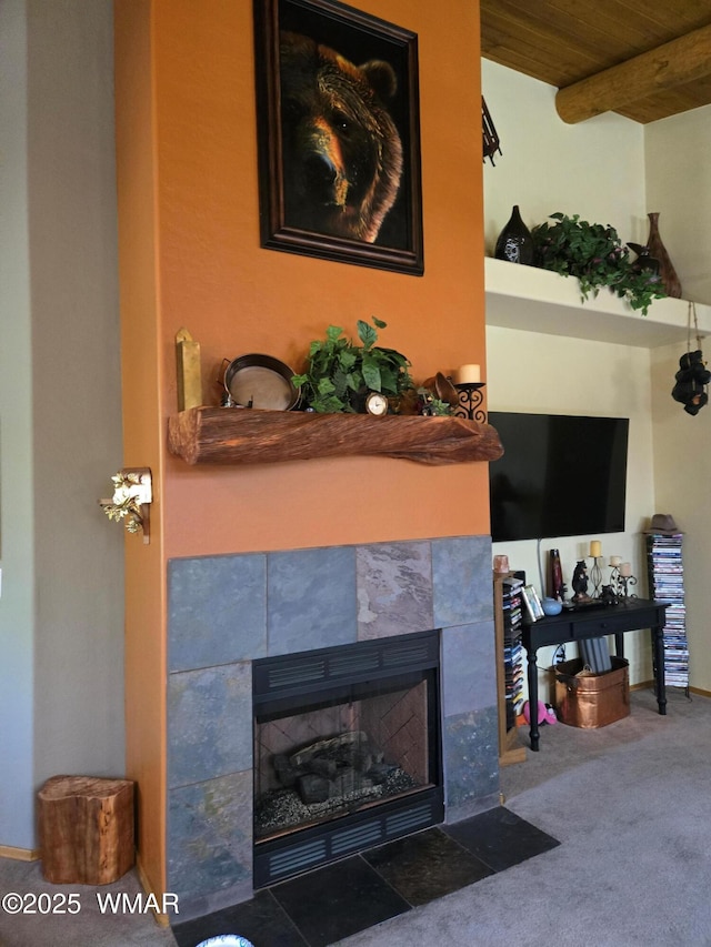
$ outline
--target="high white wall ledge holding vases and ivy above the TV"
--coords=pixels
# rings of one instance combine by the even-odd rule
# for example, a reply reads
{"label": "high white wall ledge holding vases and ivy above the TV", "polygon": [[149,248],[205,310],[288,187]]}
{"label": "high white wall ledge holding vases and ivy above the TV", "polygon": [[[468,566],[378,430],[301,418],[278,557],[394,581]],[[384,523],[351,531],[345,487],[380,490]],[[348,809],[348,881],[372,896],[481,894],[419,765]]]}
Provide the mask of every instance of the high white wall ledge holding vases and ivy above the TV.
{"label": "high white wall ledge holding vases and ivy above the TV", "polygon": [[[655,300],[647,315],[609,290],[582,302],[572,276],[488,256],[487,325],[657,349],[688,338],[689,303]],[[711,335],[711,306],[697,303],[701,338]],[[694,343],[692,332],[692,344]]]}

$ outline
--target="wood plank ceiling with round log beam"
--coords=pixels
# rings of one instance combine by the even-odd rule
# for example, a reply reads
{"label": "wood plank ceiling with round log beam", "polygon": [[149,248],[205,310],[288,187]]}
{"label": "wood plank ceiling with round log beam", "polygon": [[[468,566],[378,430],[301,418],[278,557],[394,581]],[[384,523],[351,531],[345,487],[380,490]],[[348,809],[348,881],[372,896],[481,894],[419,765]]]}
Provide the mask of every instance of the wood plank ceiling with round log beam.
{"label": "wood plank ceiling with round log beam", "polygon": [[647,123],[711,103],[711,0],[480,7],[482,57],[555,85],[564,121],[614,111]]}

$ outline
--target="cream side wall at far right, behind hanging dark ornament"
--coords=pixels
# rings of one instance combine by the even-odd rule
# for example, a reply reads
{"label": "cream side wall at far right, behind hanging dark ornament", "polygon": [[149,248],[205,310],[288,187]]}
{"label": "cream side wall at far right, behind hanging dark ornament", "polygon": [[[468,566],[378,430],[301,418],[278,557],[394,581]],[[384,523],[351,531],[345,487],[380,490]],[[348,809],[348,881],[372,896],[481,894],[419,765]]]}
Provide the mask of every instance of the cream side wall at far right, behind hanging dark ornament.
{"label": "cream side wall at far right, behind hanging dark ornament", "polygon": [[[684,299],[711,303],[711,107],[647,127],[649,206],[660,212],[660,230]],[[691,347],[697,347],[693,331]],[[711,550],[711,407],[695,417],[670,396],[685,344],[653,352],[654,482],[657,508],[672,512],[684,537],[687,627],[691,682],[711,691],[709,573]],[[702,341],[707,360],[711,340]]]}

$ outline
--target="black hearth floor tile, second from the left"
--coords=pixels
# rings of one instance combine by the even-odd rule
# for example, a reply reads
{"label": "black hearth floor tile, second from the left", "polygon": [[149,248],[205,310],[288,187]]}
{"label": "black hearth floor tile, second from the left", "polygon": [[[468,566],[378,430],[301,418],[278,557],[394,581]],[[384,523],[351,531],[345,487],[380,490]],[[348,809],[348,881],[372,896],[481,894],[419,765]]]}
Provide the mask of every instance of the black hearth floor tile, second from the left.
{"label": "black hearth floor tile, second from the left", "polygon": [[404,898],[358,856],[270,890],[309,947],[328,947],[410,910]]}

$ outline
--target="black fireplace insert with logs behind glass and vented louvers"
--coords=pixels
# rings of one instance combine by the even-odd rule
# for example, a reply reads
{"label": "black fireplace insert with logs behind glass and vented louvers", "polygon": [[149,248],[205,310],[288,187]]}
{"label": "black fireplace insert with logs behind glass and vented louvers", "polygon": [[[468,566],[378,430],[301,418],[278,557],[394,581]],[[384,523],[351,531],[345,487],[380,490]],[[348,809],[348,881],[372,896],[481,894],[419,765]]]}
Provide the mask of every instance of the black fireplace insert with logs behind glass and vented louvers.
{"label": "black fireplace insert with logs behind glass and vented louvers", "polygon": [[439,631],[253,662],[254,886],[444,818]]}

